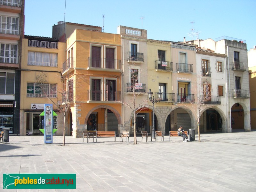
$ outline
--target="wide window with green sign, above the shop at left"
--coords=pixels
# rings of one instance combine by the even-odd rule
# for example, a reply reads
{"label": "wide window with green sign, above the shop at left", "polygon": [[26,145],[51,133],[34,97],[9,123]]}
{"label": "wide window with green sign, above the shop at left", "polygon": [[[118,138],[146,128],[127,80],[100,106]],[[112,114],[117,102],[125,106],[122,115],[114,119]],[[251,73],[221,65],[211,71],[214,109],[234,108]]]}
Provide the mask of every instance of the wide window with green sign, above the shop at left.
{"label": "wide window with green sign, above the shop at left", "polygon": [[27,97],[57,97],[57,85],[45,83],[28,83]]}

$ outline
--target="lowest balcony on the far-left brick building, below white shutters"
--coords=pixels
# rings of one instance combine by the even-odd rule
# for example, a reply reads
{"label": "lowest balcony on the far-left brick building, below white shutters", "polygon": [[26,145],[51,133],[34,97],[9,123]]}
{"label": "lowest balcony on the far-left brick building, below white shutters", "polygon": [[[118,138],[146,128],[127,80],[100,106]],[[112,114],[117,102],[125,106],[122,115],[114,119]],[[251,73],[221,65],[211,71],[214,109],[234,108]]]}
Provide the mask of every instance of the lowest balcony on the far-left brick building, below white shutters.
{"label": "lowest balcony on the far-left brick building, below white shutters", "polygon": [[[7,51],[5,51],[7,52]],[[13,52],[13,51],[9,51]],[[15,54],[0,54],[0,67],[19,67],[20,56]]]}

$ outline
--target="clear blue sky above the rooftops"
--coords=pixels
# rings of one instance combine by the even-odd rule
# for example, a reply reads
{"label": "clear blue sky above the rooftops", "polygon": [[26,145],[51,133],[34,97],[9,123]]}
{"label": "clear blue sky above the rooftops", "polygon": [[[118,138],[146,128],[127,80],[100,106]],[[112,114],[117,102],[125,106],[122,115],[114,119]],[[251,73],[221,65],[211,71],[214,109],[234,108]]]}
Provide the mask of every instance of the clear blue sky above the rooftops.
{"label": "clear blue sky above the rooftops", "polygon": [[[149,39],[183,41],[229,36],[256,45],[256,0],[25,0],[25,35],[52,37],[58,21],[103,26],[117,33],[119,25],[143,28]],[[143,19],[141,20],[140,18]],[[194,22],[194,23],[191,23]]]}

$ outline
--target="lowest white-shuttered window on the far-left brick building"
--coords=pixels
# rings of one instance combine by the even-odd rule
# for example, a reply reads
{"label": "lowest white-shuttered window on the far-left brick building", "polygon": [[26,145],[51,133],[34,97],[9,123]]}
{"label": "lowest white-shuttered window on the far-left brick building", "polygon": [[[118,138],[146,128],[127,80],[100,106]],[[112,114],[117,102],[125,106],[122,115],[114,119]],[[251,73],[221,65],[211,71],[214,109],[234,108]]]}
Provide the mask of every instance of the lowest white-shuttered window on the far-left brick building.
{"label": "lowest white-shuttered window on the far-left brick building", "polygon": [[18,63],[18,45],[4,44],[0,45],[0,62],[1,63]]}

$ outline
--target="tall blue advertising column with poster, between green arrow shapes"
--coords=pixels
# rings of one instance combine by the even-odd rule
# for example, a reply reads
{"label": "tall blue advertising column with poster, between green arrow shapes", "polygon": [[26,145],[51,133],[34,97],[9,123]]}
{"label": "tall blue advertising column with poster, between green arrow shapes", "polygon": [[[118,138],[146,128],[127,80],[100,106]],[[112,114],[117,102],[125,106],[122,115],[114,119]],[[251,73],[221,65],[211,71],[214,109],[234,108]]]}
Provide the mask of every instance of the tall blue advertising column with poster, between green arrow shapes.
{"label": "tall blue advertising column with poster, between green arrow shapes", "polygon": [[52,104],[44,104],[44,143],[52,143]]}

